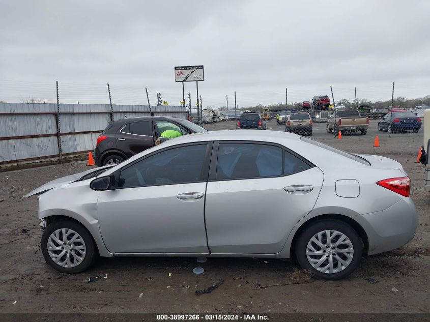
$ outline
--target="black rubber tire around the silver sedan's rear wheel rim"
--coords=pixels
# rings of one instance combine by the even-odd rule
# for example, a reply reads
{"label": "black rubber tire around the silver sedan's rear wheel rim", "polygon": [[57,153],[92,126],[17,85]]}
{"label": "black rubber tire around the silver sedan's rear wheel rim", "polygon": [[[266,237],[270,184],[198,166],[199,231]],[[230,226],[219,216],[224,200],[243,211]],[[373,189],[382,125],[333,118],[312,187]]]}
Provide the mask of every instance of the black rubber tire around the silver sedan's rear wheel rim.
{"label": "black rubber tire around the silver sedan's rear wheel rim", "polygon": [[[349,238],[354,249],[353,258],[350,264],[338,273],[329,274],[320,272],[317,269],[314,269],[307,259],[306,248],[308,242],[318,232],[325,230],[337,230],[343,233],[343,235]],[[300,233],[300,236],[298,237],[295,245],[295,255],[301,268],[304,270],[309,270],[315,277],[325,280],[338,280],[350,275],[358,267],[362,252],[363,243],[358,236],[358,233],[345,222],[334,219],[321,220],[310,224]],[[335,258],[335,255],[333,255],[333,258]]]}

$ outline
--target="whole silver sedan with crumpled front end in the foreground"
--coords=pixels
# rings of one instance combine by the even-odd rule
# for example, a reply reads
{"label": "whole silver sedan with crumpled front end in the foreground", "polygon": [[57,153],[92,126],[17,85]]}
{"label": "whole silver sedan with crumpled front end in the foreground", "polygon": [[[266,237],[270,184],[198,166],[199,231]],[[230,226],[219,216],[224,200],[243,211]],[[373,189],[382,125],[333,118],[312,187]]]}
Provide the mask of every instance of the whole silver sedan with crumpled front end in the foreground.
{"label": "whole silver sedan with crumpled front end in the foreground", "polygon": [[76,273],[98,255],[294,256],[334,280],[362,255],[414,237],[417,211],[398,162],[263,132],[175,138],[32,191],[46,261]]}

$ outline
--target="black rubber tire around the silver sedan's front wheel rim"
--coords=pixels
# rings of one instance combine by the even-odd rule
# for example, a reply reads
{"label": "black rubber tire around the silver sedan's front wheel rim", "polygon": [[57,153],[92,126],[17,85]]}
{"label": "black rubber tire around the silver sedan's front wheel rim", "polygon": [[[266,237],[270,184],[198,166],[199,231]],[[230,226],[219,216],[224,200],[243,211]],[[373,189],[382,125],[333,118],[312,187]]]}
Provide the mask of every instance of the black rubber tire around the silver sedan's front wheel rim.
{"label": "black rubber tire around the silver sedan's front wheel rim", "polygon": [[[85,256],[83,257],[82,262],[80,262],[80,264],[75,267],[66,268],[56,264],[48,253],[48,239],[51,233],[61,228],[68,228],[76,231],[85,243]],[[62,273],[74,274],[83,272],[87,270],[90,266],[92,266],[98,257],[98,251],[94,239],[90,235],[88,230],[85,229],[82,225],[71,220],[55,221],[49,224],[43,231],[41,248],[43,257],[45,257],[47,264]]]}

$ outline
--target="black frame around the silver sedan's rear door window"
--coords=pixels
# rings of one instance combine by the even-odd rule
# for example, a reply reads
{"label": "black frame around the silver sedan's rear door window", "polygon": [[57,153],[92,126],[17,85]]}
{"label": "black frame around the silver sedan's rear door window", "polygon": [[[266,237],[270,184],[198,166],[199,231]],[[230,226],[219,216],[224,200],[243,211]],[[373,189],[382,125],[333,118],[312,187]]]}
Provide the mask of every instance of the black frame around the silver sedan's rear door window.
{"label": "black frame around the silver sedan's rear door window", "polygon": [[[218,150],[219,150],[219,144],[220,143],[244,143],[244,144],[262,144],[262,145],[272,145],[274,147],[280,148],[282,150],[282,174],[280,175],[270,175],[267,177],[251,177],[251,178],[233,178],[233,179],[216,179],[216,170],[218,165]],[[291,155],[295,156],[296,158],[300,159],[304,163],[306,163],[309,168],[303,169],[300,171],[292,172],[289,174],[283,174],[284,173],[284,163],[285,163],[285,152],[290,153]],[[284,145],[274,142],[264,142],[264,141],[251,141],[251,140],[222,140],[222,141],[215,141],[213,145],[213,152],[212,152],[212,158],[211,158],[211,164],[209,168],[209,178],[208,182],[217,182],[217,181],[232,181],[232,180],[249,180],[249,179],[268,179],[268,178],[280,178],[280,177],[288,177],[289,175],[293,175],[299,172],[303,172],[306,170],[309,170],[311,168],[316,167],[312,162],[305,159],[301,155],[297,154],[296,152],[286,148]]]}

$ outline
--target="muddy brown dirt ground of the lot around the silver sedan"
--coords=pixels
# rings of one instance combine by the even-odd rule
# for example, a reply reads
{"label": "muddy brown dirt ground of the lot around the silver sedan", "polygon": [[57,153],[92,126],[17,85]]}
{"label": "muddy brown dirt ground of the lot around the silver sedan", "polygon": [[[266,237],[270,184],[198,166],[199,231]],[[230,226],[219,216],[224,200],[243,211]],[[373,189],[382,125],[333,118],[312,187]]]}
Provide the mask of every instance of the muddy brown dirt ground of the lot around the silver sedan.
{"label": "muddy brown dirt ground of the lot around the silver sedan", "polygon": [[[0,312],[430,312],[430,195],[423,187],[423,168],[414,163],[422,130],[391,138],[379,133],[381,148],[373,148],[371,133],[336,140],[322,126],[316,126],[315,134],[322,130],[314,139],[402,163],[412,179],[412,198],[419,212],[418,230],[408,245],[363,258],[360,267],[340,281],[312,279],[294,262],[253,258],[208,258],[203,264],[195,258],[101,258],[89,271],[67,275],[45,263],[37,198],[22,196],[88,166],[75,162],[2,172]],[[203,267],[205,273],[194,275],[195,267]],[[89,277],[105,274],[107,278],[87,283]],[[211,294],[195,294],[220,279],[224,283]]]}

